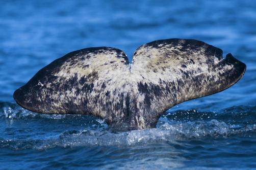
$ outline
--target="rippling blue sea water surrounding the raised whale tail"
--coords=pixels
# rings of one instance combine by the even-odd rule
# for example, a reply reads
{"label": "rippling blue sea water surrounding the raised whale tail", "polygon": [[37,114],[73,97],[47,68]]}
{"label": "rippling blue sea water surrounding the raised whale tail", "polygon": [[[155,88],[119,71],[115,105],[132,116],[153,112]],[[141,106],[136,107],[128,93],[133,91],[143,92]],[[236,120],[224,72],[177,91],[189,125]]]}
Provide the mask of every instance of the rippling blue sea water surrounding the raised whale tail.
{"label": "rippling blue sea water surrounding the raised whale tail", "polygon": [[[15,89],[81,48],[130,56],[198,39],[247,64],[233,87],[177,105],[157,128],[113,133],[100,119],[19,107]],[[256,169],[255,1],[1,1],[0,169]]]}

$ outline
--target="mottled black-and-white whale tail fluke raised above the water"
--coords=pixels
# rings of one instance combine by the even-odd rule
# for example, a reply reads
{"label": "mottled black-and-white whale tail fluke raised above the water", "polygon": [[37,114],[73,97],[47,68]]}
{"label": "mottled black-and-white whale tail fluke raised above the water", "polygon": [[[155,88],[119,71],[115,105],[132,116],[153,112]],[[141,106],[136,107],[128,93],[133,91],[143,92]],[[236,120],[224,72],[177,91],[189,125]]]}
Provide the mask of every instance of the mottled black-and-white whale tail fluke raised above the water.
{"label": "mottled black-and-white whale tail fluke raised above the water", "polygon": [[130,64],[111,47],[73,51],[14,92],[25,109],[91,114],[127,129],[155,127],[166,110],[235,84],[246,65],[197,40],[158,40],[139,47]]}

